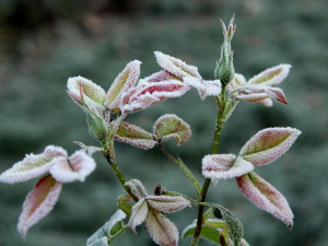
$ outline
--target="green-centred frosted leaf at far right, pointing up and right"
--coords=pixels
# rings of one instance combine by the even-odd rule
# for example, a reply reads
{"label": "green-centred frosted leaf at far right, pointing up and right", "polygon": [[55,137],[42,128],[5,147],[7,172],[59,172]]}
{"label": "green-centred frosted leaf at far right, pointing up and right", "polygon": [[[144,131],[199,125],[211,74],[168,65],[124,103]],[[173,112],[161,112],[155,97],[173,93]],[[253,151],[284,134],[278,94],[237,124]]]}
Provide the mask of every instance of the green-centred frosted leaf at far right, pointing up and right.
{"label": "green-centred frosted leaf at far right, pointing up and right", "polygon": [[284,154],[300,134],[290,127],[263,129],[246,142],[239,155],[255,166],[267,165]]}

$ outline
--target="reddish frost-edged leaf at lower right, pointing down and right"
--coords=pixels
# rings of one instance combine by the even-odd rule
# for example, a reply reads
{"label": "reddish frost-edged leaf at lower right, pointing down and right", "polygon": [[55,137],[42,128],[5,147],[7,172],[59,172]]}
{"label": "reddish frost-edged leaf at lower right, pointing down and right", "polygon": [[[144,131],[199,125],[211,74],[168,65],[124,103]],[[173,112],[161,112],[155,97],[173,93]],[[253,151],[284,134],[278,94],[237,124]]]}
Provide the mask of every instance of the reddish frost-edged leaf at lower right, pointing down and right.
{"label": "reddish frost-edged leaf at lower right, pointing down and right", "polygon": [[292,229],[294,214],[286,199],[273,186],[254,172],[237,177],[237,184],[245,197],[256,207],[272,214]]}

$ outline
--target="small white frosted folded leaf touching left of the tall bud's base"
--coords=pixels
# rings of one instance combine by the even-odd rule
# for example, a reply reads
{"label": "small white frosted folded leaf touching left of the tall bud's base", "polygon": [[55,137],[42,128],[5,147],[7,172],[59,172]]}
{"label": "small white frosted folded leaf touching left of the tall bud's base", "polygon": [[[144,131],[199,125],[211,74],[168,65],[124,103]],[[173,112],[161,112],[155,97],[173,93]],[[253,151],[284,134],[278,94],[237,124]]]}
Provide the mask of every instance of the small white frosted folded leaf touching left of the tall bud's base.
{"label": "small white frosted folded leaf touching left of the tall bud's base", "polygon": [[196,87],[201,99],[204,99],[207,96],[218,96],[222,91],[220,80],[210,81],[195,77],[185,77],[184,83]]}

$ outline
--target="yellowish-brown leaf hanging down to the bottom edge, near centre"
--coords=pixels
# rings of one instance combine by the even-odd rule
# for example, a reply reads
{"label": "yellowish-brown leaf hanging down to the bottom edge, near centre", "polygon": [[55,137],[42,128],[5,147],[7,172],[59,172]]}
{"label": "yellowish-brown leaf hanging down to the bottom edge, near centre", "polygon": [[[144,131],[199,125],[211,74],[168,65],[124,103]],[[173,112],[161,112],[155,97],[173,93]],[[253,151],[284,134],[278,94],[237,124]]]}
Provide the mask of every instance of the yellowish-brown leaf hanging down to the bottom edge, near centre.
{"label": "yellowish-brown leaf hanging down to the bottom edge, near centre", "polygon": [[162,246],[177,246],[179,233],[174,223],[157,210],[147,214],[147,230],[153,241]]}

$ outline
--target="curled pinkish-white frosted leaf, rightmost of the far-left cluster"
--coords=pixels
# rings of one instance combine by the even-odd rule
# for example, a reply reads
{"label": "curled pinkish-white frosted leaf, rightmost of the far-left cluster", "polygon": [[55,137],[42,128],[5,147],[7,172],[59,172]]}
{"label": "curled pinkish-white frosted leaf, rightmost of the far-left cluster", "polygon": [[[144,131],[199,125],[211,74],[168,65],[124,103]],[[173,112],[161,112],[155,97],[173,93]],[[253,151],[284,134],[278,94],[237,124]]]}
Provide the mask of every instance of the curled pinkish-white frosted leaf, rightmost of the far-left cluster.
{"label": "curled pinkish-white frosted leaf, rightmost of the far-left cluster", "polygon": [[55,160],[49,173],[61,183],[71,183],[75,180],[84,181],[96,167],[94,160],[84,151],[77,151],[69,159],[60,157]]}

